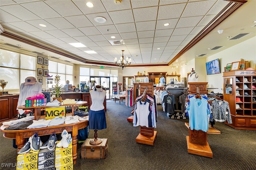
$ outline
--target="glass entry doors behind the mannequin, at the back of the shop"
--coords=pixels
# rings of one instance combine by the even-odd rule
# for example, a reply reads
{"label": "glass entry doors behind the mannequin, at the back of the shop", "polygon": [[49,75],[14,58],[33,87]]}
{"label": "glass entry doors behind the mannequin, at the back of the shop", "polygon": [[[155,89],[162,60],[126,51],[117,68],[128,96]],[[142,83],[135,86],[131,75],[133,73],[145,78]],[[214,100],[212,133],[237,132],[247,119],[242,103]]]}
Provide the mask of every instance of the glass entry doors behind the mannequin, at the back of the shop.
{"label": "glass entry doors behind the mannequin, at the back of the shop", "polygon": [[106,99],[110,99],[110,77],[90,77],[90,82],[94,82],[94,86],[91,87],[92,89],[96,85],[101,85],[107,92]]}

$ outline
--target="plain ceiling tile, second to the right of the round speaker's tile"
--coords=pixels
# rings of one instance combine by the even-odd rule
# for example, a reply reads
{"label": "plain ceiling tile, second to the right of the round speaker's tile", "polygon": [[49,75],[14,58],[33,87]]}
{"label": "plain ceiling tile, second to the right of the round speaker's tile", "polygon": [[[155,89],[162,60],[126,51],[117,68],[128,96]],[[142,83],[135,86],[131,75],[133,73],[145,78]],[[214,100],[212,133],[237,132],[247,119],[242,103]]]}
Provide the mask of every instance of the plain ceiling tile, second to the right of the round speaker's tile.
{"label": "plain ceiling tile, second to the right of the round speaker's tile", "polygon": [[156,20],[158,7],[137,8],[133,10],[135,22]]}

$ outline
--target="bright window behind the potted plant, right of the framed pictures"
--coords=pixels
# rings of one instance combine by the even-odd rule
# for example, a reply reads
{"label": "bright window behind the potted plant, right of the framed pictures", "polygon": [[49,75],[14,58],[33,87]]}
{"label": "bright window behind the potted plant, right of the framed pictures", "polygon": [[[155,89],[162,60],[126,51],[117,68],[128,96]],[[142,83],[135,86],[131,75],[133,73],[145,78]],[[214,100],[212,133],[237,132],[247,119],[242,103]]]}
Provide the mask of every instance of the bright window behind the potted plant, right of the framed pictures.
{"label": "bright window behind the potted plant, right of the framed pictures", "polygon": [[49,69],[49,75],[52,75],[53,78],[56,75],[60,76],[60,85],[65,85],[67,80],[69,81],[69,84],[74,85],[72,65],[58,63],[55,61],[49,61],[48,69]]}

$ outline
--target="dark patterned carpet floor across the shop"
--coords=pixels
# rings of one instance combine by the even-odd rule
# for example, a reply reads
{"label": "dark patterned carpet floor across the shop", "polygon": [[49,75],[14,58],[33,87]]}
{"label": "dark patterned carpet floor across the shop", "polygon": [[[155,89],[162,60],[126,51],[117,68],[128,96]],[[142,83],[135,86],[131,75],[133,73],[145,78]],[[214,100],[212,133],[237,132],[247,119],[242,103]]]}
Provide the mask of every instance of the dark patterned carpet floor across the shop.
{"label": "dark patterned carpet floor across the shop", "polygon": [[[237,130],[224,123],[216,123],[221,134],[208,134],[213,158],[189,154],[186,136],[188,119],[168,119],[158,105],[157,137],[154,146],[135,142],[140,133],[127,121],[132,107],[107,103],[107,128],[98,131],[99,138],[108,138],[106,159],[81,159],[81,144],[77,146],[78,159],[74,170],[256,170],[256,130]],[[0,169],[4,163],[16,163],[17,150],[12,140],[0,133]],[[89,138],[94,138],[90,130]]]}

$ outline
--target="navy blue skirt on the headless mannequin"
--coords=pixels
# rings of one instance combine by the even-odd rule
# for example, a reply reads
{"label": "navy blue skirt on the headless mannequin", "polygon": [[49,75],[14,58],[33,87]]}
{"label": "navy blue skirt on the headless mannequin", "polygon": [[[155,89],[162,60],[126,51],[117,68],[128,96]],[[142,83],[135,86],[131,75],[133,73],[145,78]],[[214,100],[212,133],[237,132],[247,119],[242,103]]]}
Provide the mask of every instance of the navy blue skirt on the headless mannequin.
{"label": "navy blue skirt on the headless mannequin", "polygon": [[105,110],[92,111],[89,110],[89,129],[104,129],[107,128]]}

